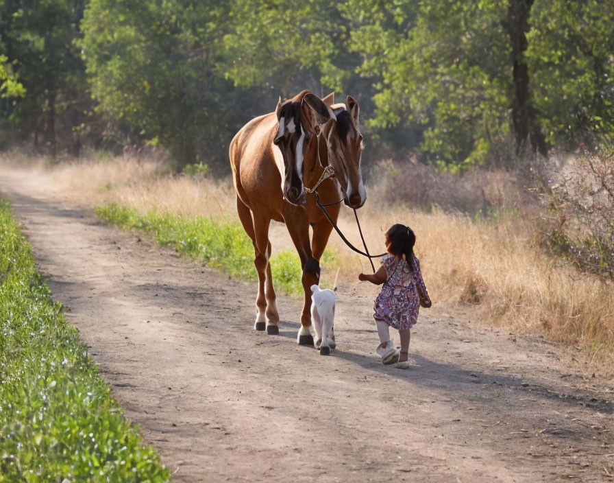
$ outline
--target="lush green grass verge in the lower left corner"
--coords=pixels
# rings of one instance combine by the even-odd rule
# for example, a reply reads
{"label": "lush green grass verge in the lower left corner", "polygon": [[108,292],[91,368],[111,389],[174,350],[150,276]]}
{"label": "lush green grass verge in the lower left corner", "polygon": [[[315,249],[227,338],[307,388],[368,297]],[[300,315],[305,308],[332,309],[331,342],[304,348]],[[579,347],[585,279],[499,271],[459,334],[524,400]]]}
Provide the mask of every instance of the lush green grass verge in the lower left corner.
{"label": "lush green grass verge in the lower left corner", "polygon": [[0,200],[0,482],[167,482]]}

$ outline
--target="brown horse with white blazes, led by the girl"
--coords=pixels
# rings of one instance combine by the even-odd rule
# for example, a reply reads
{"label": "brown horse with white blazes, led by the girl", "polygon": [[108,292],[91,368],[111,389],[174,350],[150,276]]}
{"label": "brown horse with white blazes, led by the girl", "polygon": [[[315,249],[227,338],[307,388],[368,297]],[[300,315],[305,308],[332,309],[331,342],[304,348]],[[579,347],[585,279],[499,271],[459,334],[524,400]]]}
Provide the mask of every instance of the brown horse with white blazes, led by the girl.
{"label": "brown horse with white blazes, led by the girl", "polygon": [[[299,344],[313,344],[310,335],[311,285],[320,277],[319,259],[326,248],[332,225],[317,206],[315,194],[307,194],[323,168],[334,168],[336,181],[319,185],[321,202],[345,202],[362,207],[367,198],[360,173],[363,137],[358,130],[358,103],[347,96],[347,107],[303,91],[278,102],[274,113],[247,123],[230,143],[230,164],[236,208],[243,228],[254,242],[258,272],[258,314],[254,329],[279,333],[279,314],[271,279],[271,220],[284,222],[297,249],[303,270],[305,303],[301,314]],[[334,220],[339,204],[329,208]],[[309,239],[309,226],[312,239]]]}

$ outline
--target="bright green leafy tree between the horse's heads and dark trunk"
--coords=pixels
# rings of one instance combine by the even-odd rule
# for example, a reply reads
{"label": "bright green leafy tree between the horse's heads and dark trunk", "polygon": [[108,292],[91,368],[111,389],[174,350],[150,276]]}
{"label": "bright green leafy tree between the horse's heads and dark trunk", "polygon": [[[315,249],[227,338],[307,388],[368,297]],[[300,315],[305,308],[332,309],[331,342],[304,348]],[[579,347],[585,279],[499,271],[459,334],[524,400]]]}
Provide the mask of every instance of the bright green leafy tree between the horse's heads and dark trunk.
{"label": "bright green leafy tree between the horse's heads and dark trunk", "polygon": [[[503,1],[360,0],[359,72],[379,77],[373,126],[404,126],[433,161],[470,165],[506,142],[511,91]],[[373,12],[379,14],[373,14]]]}

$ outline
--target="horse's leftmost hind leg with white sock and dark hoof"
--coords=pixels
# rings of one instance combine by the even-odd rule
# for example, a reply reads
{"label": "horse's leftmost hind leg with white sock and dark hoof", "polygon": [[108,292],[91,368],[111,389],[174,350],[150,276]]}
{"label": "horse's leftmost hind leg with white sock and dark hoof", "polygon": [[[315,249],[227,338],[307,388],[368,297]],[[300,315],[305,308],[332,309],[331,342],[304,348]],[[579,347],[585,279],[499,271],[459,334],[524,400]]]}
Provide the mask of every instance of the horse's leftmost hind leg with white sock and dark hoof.
{"label": "horse's leftmost hind leg with white sock and dark hoof", "polygon": [[[256,272],[258,272],[258,296],[256,297],[256,322],[254,324],[254,329],[257,331],[263,331],[266,328],[266,320],[267,320],[267,297],[265,294],[265,284],[267,281],[267,266],[268,266],[268,255],[269,255],[269,240],[268,240],[268,231],[269,231],[269,223],[266,223],[266,226],[263,226],[263,222],[259,224],[256,223],[256,217],[252,217],[251,210],[245,203],[241,201],[241,199],[236,197],[236,211],[238,212],[239,220],[241,220],[241,224],[243,224],[243,228],[245,229],[245,233],[251,238],[251,242],[254,244],[254,266],[256,266]],[[258,225],[258,226],[257,226]],[[267,240],[264,244],[265,249],[264,252],[258,248],[258,242],[256,238],[256,233],[264,232]],[[262,246],[262,243],[260,244]],[[268,272],[270,273],[270,267]],[[269,276],[270,279],[270,276]],[[272,290],[272,287],[271,287]],[[273,292],[273,297],[275,293]],[[273,307],[275,302],[273,301]],[[275,313],[277,309],[275,309]]]}

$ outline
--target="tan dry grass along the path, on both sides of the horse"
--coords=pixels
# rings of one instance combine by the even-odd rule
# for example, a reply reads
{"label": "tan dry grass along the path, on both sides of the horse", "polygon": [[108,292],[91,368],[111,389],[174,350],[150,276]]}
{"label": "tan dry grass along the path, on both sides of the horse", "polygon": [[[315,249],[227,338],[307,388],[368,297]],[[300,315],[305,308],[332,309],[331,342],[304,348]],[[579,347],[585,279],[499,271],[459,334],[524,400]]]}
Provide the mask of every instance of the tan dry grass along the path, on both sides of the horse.
{"label": "tan dry grass along the path, on both sides of the horse", "polygon": [[[146,211],[213,217],[236,216],[230,180],[214,182],[164,174],[159,163],[117,158],[69,163],[51,169],[54,184],[75,200],[94,206],[120,202]],[[541,333],[550,340],[581,346],[593,363],[613,362],[613,285],[572,266],[561,266],[535,244],[535,223],[502,215],[473,220],[467,215],[425,213],[387,200],[389,187],[371,187],[358,211],[371,253],[384,251],[384,232],[394,223],[411,226],[416,252],[433,300],[474,307],[484,323],[514,331]],[[342,210],[341,230],[362,248],[354,214]],[[280,224],[271,229],[273,247],[291,249]],[[341,285],[360,290],[357,275],[368,261],[345,247],[333,233],[330,248],[339,252]],[[377,268],[377,266],[376,266]],[[330,283],[332,274],[323,274]]]}

